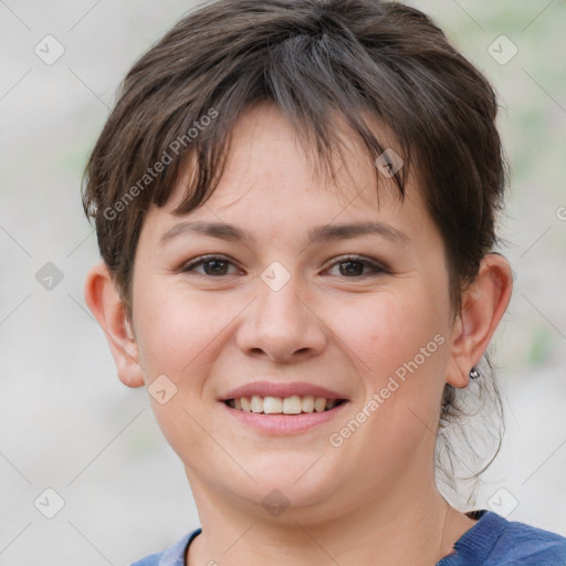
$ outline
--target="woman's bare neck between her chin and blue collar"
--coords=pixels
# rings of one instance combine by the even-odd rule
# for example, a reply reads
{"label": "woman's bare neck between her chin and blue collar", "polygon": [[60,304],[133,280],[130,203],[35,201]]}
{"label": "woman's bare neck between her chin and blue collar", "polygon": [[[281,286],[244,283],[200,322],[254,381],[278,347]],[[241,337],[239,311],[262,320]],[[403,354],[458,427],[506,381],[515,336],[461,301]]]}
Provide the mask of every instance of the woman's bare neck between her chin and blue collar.
{"label": "woman's bare neck between her chin and blue collar", "polygon": [[279,517],[269,517],[261,506],[249,510],[241,502],[227,502],[226,495],[206,490],[197,478],[190,483],[202,533],[189,547],[188,566],[324,562],[432,566],[474,524],[447,503],[433,479],[428,489],[421,481],[387,497],[368,497],[355,505],[338,502],[333,512],[314,515],[312,509],[290,507]]}

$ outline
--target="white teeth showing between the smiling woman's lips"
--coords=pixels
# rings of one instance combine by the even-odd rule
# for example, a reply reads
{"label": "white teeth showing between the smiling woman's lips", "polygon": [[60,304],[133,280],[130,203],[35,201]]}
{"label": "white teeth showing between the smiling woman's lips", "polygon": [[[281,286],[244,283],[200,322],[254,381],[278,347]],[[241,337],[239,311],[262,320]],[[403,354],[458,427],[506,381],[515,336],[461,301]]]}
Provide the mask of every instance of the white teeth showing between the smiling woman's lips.
{"label": "white teeth showing between the smiling woman's lips", "polygon": [[294,395],[292,397],[261,397],[259,395],[252,395],[251,397],[227,399],[223,402],[228,407],[243,412],[255,412],[260,415],[302,415],[329,411],[347,402],[347,400],[326,399],[325,397],[314,397],[312,395]]}

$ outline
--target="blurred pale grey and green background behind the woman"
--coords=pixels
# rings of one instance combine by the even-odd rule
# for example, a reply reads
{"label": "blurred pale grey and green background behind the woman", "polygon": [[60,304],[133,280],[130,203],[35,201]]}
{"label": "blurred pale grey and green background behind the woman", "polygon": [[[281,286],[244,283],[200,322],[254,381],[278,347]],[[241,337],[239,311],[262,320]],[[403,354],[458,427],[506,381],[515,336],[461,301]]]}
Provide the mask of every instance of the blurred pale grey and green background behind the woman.
{"label": "blurred pale grey and green background behind the woman", "polygon": [[[493,82],[512,168],[515,287],[492,346],[506,434],[465,509],[566,536],[566,3],[410,3]],[[0,1],[0,565],[125,565],[199,526],[85,306],[98,252],[80,198],[118,83],[193,6]]]}

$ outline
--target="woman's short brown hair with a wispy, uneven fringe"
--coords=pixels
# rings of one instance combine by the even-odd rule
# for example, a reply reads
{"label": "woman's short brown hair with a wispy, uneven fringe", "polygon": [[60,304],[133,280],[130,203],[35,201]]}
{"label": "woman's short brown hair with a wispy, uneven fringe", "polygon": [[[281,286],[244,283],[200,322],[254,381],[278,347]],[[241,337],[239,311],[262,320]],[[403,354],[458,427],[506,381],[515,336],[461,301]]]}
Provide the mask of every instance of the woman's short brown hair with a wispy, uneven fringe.
{"label": "woman's short brown hair with a wispy, uneven fringe", "polygon": [[[506,180],[486,78],[427,15],[399,2],[217,0],[134,64],[85,170],[84,210],[129,319],[145,212],[168,201],[189,153],[195,168],[176,213],[203,205],[237,118],[262,101],[276,104],[328,165],[339,146],[331,116],[344,118],[371,160],[385,147],[364,115],[392,132],[405,160],[394,180],[403,198],[407,172],[418,171],[458,313],[464,285],[496,243]],[[443,417],[455,407],[447,385]]]}

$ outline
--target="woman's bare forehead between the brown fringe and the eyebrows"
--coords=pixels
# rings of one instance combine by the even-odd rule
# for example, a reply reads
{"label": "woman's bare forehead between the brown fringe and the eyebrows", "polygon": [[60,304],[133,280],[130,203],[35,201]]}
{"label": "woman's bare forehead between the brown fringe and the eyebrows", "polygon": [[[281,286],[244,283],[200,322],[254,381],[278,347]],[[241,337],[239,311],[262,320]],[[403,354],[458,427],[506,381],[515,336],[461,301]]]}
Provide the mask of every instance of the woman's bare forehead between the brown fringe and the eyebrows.
{"label": "woman's bare forehead between the brown fringe and the eyebrows", "polygon": [[[182,177],[163,212],[169,216],[169,221],[212,220],[220,224],[212,230],[228,237],[233,229],[221,224],[240,223],[240,232],[234,237],[244,240],[253,239],[251,232],[254,227],[263,224],[269,229],[273,222],[286,222],[289,230],[301,223],[308,224],[311,238],[324,235],[322,224],[342,226],[354,220],[366,223],[366,229],[369,222],[387,220],[391,224],[389,235],[395,232],[396,223],[409,223],[413,229],[423,226],[419,216],[427,213],[410,176],[406,184],[407,197],[401,202],[392,178],[377,175],[376,186],[376,165],[361,142],[339,119],[336,128],[340,146],[332,155],[335,171],[332,179],[322,161],[316,163],[315,148],[304,144],[275,105],[253,106],[235,123],[223,175],[207,202],[184,217],[174,214],[193,170],[195,156],[189,155]],[[386,147],[392,146],[400,151],[388,132],[378,130],[376,134],[387,144]],[[387,212],[385,217],[384,212]],[[407,217],[405,222],[403,216]],[[376,229],[374,226],[373,229],[379,231],[379,227]],[[346,231],[344,235],[347,235]],[[381,230],[381,235],[387,235],[386,232],[387,229]],[[339,234],[339,230],[334,230],[328,239],[336,239]],[[401,240],[399,238],[398,243]]]}

